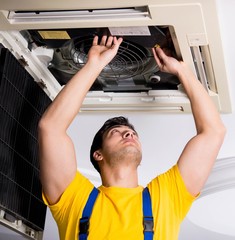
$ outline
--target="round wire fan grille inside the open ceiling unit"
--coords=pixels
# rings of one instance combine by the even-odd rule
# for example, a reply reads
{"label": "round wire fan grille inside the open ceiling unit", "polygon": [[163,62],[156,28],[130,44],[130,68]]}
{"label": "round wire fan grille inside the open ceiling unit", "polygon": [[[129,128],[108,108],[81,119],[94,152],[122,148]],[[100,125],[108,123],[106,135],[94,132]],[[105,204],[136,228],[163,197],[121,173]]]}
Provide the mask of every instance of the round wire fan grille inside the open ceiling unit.
{"label": "round wire fan grille inside the open ceiling unit", "polygon": [[[93,37],[73,40],[71,56],[75,67],[80,69],[87,61],[87,53],[92,45]],[[128,41],[123,41],[116,57],[108,64],[100,78],[122,80],[144,74],[147,69],[156,71],[156,64],[147,48]],[[149,70],[150,71],[150,70]]]}

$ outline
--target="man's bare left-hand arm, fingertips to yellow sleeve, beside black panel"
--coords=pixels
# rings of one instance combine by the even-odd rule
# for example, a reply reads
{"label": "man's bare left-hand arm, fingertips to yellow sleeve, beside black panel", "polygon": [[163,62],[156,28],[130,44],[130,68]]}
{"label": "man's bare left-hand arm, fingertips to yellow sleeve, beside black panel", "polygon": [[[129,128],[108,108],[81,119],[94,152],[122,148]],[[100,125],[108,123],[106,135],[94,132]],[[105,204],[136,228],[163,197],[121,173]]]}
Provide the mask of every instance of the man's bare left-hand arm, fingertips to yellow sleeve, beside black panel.
{"label": "man's bare left-hand arm, fingertips to yellow sleeve, beside black panel", "polygon": [[84,67],[66,84],[43,114],[38,127],[40,177],[43,191],[53,204],[77,170],[74,145],[66,131],[102,69],[116,55],[122,38],[94,37]]}

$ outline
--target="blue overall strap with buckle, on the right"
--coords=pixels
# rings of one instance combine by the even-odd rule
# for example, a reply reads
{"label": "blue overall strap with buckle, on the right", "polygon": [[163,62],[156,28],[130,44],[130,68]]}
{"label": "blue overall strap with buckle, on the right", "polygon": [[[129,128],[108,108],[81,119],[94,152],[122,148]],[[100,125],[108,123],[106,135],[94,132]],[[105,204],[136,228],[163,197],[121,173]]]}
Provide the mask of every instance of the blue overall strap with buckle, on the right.
{"label": "blue overall strap with buckle, on the right", "polygon": [[144,240],[153,239],[153,214],[151,197],[148,188],[143,190],[143,226]]}

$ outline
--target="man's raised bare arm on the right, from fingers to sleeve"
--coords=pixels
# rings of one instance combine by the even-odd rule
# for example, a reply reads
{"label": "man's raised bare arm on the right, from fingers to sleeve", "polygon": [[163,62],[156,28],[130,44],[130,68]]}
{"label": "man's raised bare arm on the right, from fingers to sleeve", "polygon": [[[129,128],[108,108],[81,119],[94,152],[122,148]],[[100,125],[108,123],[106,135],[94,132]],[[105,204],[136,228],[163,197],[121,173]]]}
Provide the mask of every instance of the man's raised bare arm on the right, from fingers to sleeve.
{"label": "man's raised bare arm on the right, from fingers to sleeve", "polygon": [[223,143],[225,127],[202,84],[184,62],[153,49],[161,71],[178,76],[190,100],[197,134],[185,146],[178,167],[188,191],[197,195],[203,188]]}

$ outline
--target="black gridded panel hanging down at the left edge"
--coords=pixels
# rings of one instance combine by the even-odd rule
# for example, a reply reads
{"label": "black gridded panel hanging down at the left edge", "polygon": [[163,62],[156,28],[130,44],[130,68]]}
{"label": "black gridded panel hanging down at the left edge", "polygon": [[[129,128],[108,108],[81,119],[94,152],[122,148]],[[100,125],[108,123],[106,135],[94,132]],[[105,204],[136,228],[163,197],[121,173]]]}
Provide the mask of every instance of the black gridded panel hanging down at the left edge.
{"label": "black gridded panel hanging down at the left edge", "polygon": [[0,50],[0,208],[43,230],[37,124],[51,101],[14,56]]}

